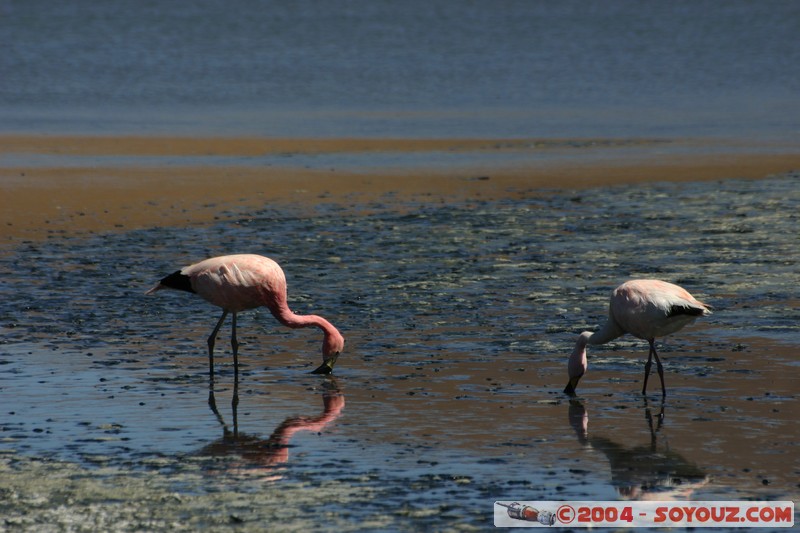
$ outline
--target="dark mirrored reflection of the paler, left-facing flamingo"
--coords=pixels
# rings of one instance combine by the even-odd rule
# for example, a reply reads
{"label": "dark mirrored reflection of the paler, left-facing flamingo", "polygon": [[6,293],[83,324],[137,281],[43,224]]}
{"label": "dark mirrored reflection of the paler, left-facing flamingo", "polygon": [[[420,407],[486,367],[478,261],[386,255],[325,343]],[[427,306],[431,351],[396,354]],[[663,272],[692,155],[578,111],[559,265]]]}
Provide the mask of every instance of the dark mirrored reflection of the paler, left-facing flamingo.
{"label": "dark mirrored reflection of the paler, left-facing flamingo", "polygon": [[650,444],[627,448],[606,437],[589,435],[589,415],[580,400],[570,400],[569,423],[578,441],[603,453],[611,468],[611,483],[625,500],[688,500],[692,493],[707,485],[709,476],[697,465],[669,449],[659,446],[658,432],[664,421],[664,404],[653,416],[645,400],[645,418],[650,430]]}

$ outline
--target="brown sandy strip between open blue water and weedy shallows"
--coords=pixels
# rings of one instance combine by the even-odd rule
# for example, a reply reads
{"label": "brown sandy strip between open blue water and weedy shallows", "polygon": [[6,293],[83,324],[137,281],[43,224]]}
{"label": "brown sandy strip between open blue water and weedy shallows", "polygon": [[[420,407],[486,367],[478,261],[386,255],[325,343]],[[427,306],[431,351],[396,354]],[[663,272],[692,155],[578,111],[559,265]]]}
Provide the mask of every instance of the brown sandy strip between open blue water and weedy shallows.
{"label": "brown sandy strip between open blue water and weedy shallows", "polygon": [[[691,140],[3,135],[0,162],[13,164],[0,163],[0,242],[37,240],[52,233],[200,223],[276,202],[358,205],[387,193],[423,201],[497,199],[553,188],[757,179],[800,169],[797,147],[767,148]],[[373,159],[370,165],[324,169],[292,163],[291,157],[269,166],[246,163],[249,157],[320,154]],[[448,154],[448,161],[453,155],[473,162],[476,157],[481,161],[481,156],[489,160],[463,165],[383,164],[381,157],[386,154],[402,154],[412,162],[415,154],[428,157],[425,161],[436,154]],[[506,161],[504,155],[512,157]],[[45,157],[46,163],[37,162],[37,157]],[[209,157],[245,163],[204,164],[203,158]],[[137,164],[137,158],[148,161]],[[175,164],[170,158],[191,163]]]}

